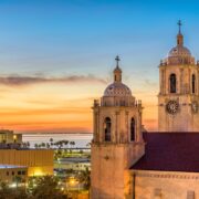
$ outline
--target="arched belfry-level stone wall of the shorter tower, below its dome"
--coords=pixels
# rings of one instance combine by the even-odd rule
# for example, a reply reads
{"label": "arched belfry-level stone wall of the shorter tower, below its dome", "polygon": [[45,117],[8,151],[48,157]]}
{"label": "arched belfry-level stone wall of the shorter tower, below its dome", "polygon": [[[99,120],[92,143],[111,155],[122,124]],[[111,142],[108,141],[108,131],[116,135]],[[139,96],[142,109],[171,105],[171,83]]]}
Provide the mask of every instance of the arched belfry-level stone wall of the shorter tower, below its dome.
{"label": "arched belfry-level stone wall of the shorter tower, below its dome", "polygon": [[94,142],[104,142],[104,119],[112,119],[112,143],[129,142],[130,119],[136,121],[136,140],[143,142],[142,113],[138,107],[95,107],[94,108]]}

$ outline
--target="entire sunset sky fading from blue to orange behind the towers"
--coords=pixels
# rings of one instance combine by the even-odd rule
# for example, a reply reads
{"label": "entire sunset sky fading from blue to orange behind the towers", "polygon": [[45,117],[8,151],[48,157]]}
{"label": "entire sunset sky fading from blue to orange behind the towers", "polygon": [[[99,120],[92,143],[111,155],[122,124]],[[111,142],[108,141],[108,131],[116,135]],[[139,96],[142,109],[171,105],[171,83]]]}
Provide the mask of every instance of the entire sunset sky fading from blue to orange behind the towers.
{"label": "entire sunset sky fading from blue to orange behind the towers", "polygon": [[0,128],[92,132],[94,98],[121,56],[123,80],[157,130],[158,64],[176,45],[199,59],[192,0],[0,0]]}

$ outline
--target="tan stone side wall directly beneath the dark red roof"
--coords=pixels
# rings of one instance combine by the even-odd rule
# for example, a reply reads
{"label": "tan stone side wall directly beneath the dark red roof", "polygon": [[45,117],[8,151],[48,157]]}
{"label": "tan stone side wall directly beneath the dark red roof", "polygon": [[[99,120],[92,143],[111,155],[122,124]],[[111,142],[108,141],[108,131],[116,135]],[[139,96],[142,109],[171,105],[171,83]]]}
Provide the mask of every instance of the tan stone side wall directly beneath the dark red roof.
{"label": "tan stone side wall directly beneath the dark red roof", "polygon": [[199,198],[199,174],[171,171],[136,171],[136,199]]}

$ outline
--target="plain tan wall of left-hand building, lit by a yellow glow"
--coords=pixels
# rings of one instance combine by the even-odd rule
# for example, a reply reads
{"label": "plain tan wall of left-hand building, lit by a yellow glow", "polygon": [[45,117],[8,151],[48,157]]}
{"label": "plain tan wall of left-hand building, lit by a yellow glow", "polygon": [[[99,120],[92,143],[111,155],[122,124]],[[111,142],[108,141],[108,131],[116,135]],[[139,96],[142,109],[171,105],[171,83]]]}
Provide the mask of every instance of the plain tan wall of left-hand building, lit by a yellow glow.
{"label": "plain tan wall of left-hand building, lit by a yellow glow", "polygon": [[51,149],[0,149],[0,164],[27,166],[31,175],[53,175]]}

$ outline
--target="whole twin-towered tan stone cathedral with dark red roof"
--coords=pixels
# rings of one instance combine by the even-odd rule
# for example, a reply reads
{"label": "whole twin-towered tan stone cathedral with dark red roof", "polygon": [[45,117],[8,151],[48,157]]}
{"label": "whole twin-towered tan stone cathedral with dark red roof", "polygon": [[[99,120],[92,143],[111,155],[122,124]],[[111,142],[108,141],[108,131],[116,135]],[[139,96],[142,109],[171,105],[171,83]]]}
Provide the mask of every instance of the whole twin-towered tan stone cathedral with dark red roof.
{"label": "whole twin-towered tan stone cathedral with dark red roof", "polygon": [[158,132],[143,130],[143,105],[123,83],[118,56],[113,83],[94,101],[92,199],[199,199],[199,63],[178,25],[159,64]]}

